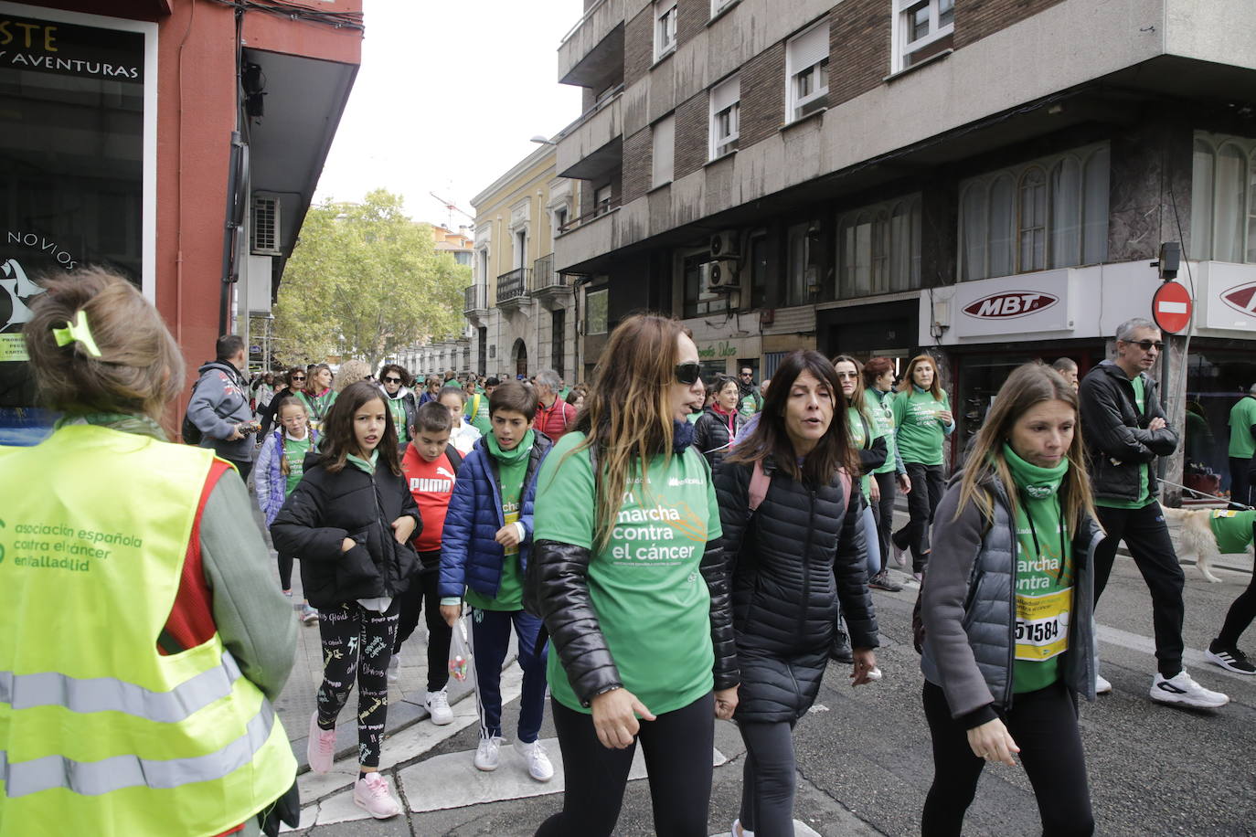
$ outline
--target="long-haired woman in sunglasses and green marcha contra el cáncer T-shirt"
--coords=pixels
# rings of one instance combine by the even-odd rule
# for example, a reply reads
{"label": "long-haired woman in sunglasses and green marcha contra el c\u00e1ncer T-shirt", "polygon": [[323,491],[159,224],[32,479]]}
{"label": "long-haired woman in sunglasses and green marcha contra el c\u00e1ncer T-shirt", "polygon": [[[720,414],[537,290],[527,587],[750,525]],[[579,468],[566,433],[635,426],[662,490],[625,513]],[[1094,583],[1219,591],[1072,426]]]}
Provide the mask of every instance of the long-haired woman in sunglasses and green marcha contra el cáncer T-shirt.
{"label": "long-haired woman in sunglasses and green marcha contra el c\u00e1ncer T-shirt", "polygon": [[529,607],[553,641],[566,791],[540,836],[613,833],[638,739],[654,833],[708,833],[712,715],[732,715],[737,671],[720,511],[686,420],[700,373],[677,320],[625,319],[541,466]]}

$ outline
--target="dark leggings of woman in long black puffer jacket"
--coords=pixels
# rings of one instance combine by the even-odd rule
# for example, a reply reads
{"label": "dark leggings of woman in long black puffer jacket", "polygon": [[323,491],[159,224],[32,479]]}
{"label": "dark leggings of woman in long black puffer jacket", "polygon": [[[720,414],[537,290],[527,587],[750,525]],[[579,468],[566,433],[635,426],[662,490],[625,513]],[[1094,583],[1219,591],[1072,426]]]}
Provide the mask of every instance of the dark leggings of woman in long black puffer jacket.
{"label": "dark leggings of woman in long black puffer jacket", "polygon": [[746,743],[741,827],[755,837],[794,834],[794,722],[739,723]]}

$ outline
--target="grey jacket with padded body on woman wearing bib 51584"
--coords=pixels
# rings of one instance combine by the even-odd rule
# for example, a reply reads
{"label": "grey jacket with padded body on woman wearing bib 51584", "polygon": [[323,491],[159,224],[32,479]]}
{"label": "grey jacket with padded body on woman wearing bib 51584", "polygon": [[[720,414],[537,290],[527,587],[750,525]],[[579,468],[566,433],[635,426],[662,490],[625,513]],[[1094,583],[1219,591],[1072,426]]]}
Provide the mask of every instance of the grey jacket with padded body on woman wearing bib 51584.
{"label": "grey jacket with padded body on woman wearing bib 51584", "polygon": [[[997,481],[982,483],[995,498],[992,522],[976,503],[956,520],[961,479],[960,473],[951,478],[933,517],[933,552],[921,591],[921,670],[946,693],[951,717],[967,715],[971,729],[1012,704],[1016,532],[1007,492]],[[1089,517],[1073,537],[1073,617],[1060,666],[1064,684],[1086,700],[1095,696],[1094,551],[1102,538]]]}

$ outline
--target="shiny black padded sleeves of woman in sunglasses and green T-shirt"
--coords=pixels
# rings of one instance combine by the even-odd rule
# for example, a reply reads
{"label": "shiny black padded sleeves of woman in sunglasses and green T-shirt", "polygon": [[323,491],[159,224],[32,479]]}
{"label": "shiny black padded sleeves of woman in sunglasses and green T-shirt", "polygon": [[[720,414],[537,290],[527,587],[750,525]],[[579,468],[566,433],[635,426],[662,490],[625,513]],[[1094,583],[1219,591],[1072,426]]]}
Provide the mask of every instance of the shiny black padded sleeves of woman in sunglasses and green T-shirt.
{"label": "shiny black padded sleeves of woman in sunglasses and green T-shirt", "polygon": [[[593,467],[597,473],[595,457]],[[536,601],[531,604],[544,620],[571,690],[583,706],[603,691],[624,685],[589,596],[590,560],[592,552],[584,547],[536,541],[528,576],[528,586],[536,595]],[[730,689],[737,685],[740,675],[728,611],[728,566],[720,541],[707,542],[700,568],[711,594],[715,688]]]}

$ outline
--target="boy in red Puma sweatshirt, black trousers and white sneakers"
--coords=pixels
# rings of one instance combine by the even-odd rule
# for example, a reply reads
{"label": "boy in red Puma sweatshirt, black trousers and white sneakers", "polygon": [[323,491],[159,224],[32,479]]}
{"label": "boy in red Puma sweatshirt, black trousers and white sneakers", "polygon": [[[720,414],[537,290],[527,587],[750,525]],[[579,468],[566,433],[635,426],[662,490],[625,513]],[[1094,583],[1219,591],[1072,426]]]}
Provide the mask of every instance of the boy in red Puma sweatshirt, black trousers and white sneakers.
{"label": "boy in red Puma sweatshirt, black trousers and white sneakers", "polygon": [[401,646],[414,632],[420,611],[423,611],[427,621],[427,695],[423,705],[437,725],[453,720],[453,710],[450,709],[445,691],[450,681],[447,663],[453,631],[441,617],[441,597],[436,592],[445,512],[450,507],[453,482],[462,464],[461,454],[450,444],[451,429],[450,412],[440,402],[423,404],[414,417],[414,438],[406,445],[402,456],[401,468],[409,493],[423,516],[423,531],[413,541],[422,570],[418,582],[411,582],[409,590],[399,596],[397,641],[388,661],[388,681],[396,683],[401,669]]}

